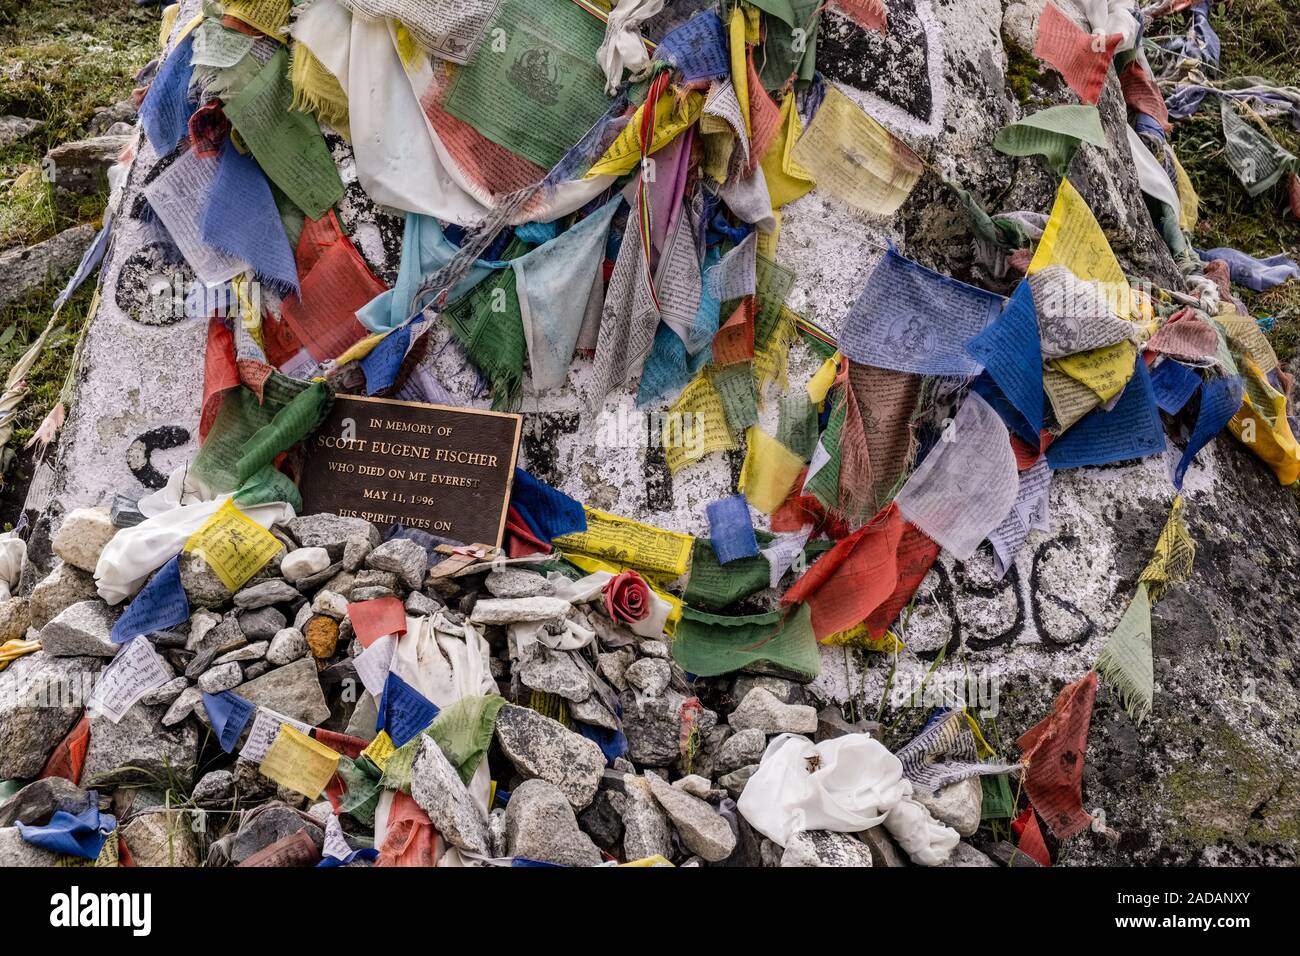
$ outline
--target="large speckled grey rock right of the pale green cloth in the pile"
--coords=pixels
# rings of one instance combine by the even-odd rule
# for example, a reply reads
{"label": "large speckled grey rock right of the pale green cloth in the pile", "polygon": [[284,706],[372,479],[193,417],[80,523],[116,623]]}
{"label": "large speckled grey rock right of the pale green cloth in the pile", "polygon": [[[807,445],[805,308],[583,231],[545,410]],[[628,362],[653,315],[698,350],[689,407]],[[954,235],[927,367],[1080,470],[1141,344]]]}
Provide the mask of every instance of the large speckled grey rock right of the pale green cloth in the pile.
{"label": "large speckled grey rock right of the pale green cloth in the pile", "polygon": [[592,803],[604,754],[581,734],[536,710],[507,704],[497,714],[497,740],[523,778],[554,783],[577,809]]}

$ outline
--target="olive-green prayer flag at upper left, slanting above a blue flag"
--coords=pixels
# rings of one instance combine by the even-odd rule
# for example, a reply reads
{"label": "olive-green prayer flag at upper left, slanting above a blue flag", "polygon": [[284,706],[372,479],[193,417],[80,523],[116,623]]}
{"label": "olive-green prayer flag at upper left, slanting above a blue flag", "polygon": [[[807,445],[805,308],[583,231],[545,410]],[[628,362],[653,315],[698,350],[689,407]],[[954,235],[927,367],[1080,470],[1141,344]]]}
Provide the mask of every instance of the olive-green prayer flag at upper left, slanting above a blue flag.
{"label": "olive-green prayer flag at upper left, slanting above a blue flag", "polygon": [[[290,109],[292,101],[289,49],[281,48],[247,86],[226,100],[225,113],[266,178],[304,213],[320,219],[343,198],[343,181],[320,124],[309,113]],[[239,202],[239,196],[226,199]]]}

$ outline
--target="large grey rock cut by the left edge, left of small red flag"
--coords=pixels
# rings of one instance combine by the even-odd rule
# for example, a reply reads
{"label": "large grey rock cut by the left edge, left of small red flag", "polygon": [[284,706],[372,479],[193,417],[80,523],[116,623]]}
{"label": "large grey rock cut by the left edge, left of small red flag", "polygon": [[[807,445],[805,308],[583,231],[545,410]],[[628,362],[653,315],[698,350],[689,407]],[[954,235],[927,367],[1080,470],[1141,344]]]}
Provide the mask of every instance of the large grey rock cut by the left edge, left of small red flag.
{"label": "large grey rock cut by the left edge, left of small red flag", "polygon": [[0,779],[31,779],[90,700],[103,661],[25,654],[0,671]]}

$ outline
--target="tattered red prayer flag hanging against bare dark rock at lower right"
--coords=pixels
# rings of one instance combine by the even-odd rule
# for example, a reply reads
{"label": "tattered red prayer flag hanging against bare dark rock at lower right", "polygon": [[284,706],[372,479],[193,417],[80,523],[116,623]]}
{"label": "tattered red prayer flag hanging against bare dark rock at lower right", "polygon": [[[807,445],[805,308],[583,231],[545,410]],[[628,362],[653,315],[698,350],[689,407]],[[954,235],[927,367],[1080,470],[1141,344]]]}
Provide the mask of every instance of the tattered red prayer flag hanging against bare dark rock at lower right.
{"label": "tattered red prayer flag hanging against bare dark rock at lower right", "polygon": [[1092,823],[1083,809],[1083,754],[1096,698],[1097,672],[1088,671],[1063,688],[1052,713],[1017,741],[1028,765],[1024,792],[1058,840]]}

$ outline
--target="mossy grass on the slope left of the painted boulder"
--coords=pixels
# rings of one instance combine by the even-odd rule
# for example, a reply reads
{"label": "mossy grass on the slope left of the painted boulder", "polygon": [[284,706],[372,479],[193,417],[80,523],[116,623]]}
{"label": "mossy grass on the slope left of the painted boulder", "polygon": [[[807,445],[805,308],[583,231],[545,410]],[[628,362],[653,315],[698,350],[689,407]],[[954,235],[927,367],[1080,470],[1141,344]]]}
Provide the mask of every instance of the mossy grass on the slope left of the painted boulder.
{"label": "mossy grass on the slope left of the painted boulder", "polygon": [[[107,196],[56,193],[40,174],[40,160],[60,143],[87,135],[98,109],[130,95],[135,73],[157,52],[159,8],[134,0],[31,0],[0,8],[0,116],[36,120],[25,138],[0,147],[0,250],[48,239],[79,222],[98,224]],[[0,310],[0,381],[46,328],[65,277]],[[47,345],[27,376],[31,392],[10,450],[21,450],[57,399],[86,320],[91,289],[62,311],[62,333]],[[0,462],[0,475],[10,471]],[[17,455],[18,472],[30,460]],[[6,476],[0,525],[12,522],[26,473]],[[10,486],[12,485],[12,486]]]}

